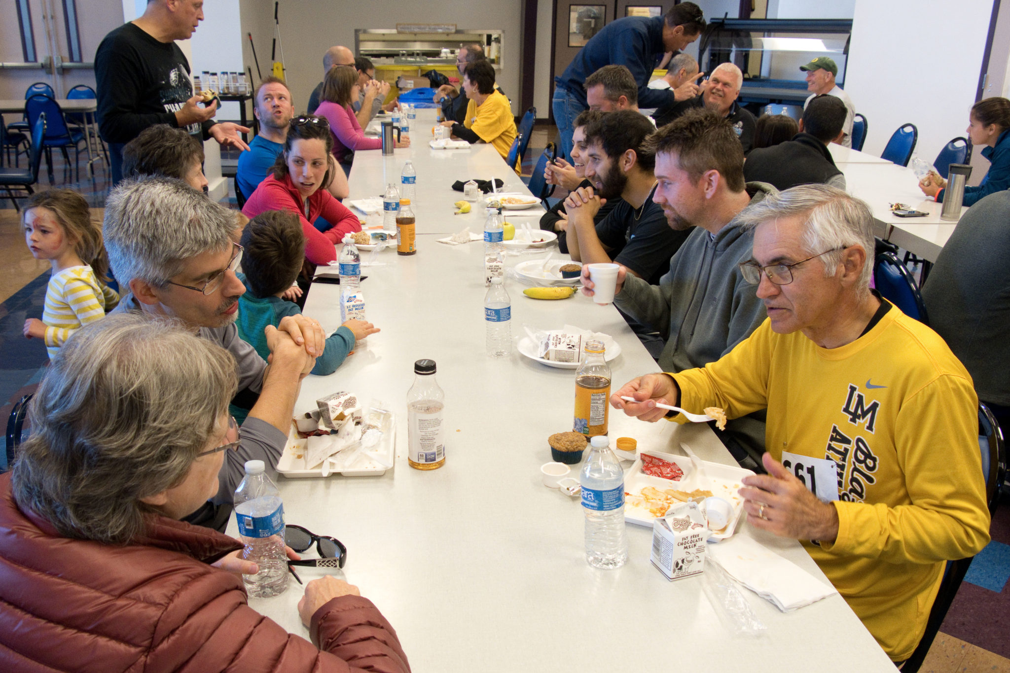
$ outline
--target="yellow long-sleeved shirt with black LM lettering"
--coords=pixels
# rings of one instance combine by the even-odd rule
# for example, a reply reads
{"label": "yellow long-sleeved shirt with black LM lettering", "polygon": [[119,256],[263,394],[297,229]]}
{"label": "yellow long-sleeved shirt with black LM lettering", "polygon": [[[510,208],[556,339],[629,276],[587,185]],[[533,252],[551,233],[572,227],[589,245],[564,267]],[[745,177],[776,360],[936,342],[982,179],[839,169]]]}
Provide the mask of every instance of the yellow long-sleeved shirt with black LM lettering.
{"label": "yellow long-sleeved shirt with black LM lettering", "polygon": [[766,320],[718,361],[671,375],[688,411],[767,408],[775,459],[834,462],[838,536],[803,544],[891,659],[907,659],[944,561],[989,542],[979,402],[943,340],[894,307],[833,349]]}

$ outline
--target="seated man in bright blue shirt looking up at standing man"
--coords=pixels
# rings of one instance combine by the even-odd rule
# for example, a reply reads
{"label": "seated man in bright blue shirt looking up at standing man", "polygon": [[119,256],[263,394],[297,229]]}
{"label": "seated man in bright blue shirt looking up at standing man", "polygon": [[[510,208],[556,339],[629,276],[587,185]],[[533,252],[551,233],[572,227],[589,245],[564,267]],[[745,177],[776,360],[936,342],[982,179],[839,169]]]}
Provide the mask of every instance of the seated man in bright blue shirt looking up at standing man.
{"label": "seated man in bright blue shirt looking up at standing man", "polygon": [[[274,167],[277,155],[284,149],[284,141],[288,139],[288,125],[295,114],[291,90],[284,80],[273,75],[268,75],[260,82],[252,95],[252,114],[260,121],[260,133],[249,142],[248,151],[238,155],[238,169],[235,173],[235,187],[246,199]],[[329,193],[337,199],[345,199],[350,194],[346,174],[334,172]]]}

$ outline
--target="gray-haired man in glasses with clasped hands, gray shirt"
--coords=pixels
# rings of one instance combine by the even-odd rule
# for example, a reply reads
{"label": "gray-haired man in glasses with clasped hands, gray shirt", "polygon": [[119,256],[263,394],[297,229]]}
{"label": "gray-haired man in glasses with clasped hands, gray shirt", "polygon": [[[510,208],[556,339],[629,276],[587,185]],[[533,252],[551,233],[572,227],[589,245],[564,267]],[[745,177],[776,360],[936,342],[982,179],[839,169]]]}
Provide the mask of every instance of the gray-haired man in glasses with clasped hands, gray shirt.
{"label": "gray-haired man in glasses with clasped hands, gray shirt", "polygon": [[234,321],[245,287],[235,276],[242,248],[231,240],[234,222],[232,211],[185,183],[150,178],[114,189],[103,224],[109,259],[120,287],[129,293],[117,310],[176,319],[235,359],[238,391],[232,405],[250,411],[241,446],[228,452],[221,468],[215,503],[231,502],[246,460],[277,466],[301,379],[325,340],[315,320],[285,318],[278,328],[266,330],[272,356],[268,366],[238,338]]}

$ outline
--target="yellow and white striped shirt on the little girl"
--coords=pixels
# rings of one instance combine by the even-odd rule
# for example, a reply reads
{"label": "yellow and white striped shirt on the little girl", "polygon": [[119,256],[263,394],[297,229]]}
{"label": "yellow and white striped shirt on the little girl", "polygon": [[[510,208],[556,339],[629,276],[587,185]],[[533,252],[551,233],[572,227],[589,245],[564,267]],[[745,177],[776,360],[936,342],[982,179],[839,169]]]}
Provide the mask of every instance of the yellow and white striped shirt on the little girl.
{"label": "yellow and white striped shirt on the little girl", "polygon": [[95,277],[91,266],[71,266],[49,278],[45,290],[45,345],[49,357],[87,323],[105,317],[119,303],[119,295]]}

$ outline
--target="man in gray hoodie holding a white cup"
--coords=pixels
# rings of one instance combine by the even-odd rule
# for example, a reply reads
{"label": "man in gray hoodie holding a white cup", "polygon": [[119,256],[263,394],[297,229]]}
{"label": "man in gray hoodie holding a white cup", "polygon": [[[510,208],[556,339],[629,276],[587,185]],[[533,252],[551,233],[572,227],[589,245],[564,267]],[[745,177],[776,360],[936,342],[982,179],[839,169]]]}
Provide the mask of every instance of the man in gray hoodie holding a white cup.
{"label": "man in gray hoodie holding a white cup", "polygon": [[[660,331],[666,341],[660,366],[677,372],[719,359],[767,317],[737,266],[750,259],[753,238],[737,217],[776,190],[764,183],[744,184],[736,133],[715,112],[692,110],[658,130],[647,144],[655,160],[655,204],[671,229],[690,234],[659,286],[635,277],[631,269],[618,269],[614,305]],[[585,266],[582,281],[585,294],[592,296]],[[764,451],[765,423],[750,416],[735,419],[719,438],[749,465],[744,456]],[[760,457],[755,462],[761,464]]]}

